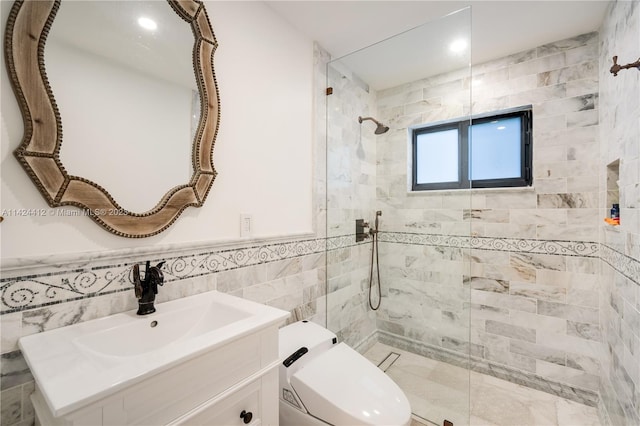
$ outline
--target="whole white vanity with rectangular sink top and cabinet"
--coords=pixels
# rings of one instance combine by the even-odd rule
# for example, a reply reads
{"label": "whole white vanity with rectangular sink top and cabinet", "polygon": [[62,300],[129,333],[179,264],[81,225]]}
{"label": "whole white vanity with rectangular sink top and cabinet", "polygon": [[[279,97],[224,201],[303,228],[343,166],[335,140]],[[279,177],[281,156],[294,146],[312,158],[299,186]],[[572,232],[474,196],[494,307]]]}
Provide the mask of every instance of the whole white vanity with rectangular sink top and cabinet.
{"label": "whole white vanity with rectangular sink top and cabinet", "polygon": [[37,422],[277,426],[288,316],[211,291],[23,337]]}

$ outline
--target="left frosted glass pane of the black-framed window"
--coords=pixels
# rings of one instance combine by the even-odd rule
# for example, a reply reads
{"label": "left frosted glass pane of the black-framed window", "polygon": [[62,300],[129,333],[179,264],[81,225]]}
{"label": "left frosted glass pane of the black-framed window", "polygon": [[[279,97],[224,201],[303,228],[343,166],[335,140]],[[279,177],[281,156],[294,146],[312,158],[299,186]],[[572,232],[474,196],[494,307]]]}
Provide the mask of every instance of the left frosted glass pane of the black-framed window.
{"label": "left frosted glass pane of the black-framed window", "polygon": [[458,181],[458,129],[416,138],[416,183]]}

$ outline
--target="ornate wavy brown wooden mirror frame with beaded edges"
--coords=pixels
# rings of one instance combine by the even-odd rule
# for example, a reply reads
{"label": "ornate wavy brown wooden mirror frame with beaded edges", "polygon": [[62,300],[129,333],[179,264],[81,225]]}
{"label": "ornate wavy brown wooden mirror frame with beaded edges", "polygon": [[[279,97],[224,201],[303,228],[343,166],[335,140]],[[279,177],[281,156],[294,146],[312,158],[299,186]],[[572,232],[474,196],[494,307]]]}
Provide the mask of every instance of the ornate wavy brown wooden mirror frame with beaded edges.
{"label": "ornate wavy brown wooden mirror frame with beaded edges", "polygon": [[167,0],[191,25],[195,38],[193,65],[201,111],[191,154],[193,175],[188,184],[169,190],[152,210],[132,213],[122,209],[97,183],[70,176],[60,161],[62,121],[44,64],[45,42],[60,1],[17,0],[7,21],[7,69],[24,121],[24,136],[14,155],[49,206],[79,207],[96,223],[123,237],[158,234],[185,208],[202,206],[216,177],[212,155],[220,120],[213,70],[217,42],[204,4],[198,0]]}

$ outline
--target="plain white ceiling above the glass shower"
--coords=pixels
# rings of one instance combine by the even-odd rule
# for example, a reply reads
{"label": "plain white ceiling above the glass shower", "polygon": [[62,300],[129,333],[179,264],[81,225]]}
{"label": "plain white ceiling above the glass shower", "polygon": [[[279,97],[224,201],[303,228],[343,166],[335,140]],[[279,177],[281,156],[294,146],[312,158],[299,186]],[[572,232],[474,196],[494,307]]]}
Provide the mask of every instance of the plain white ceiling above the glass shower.
{"label": "plain white ceiling above the glass shower", "polygon": [[[399,33],[424,25],[419,36],[422,56],[436,58],[436,49],[449,43],[452,27],[462,28],[471,34],[471,58],[473,64],[521,52],[546,43],[563,40],[576,35],[597,31],[604,19],[610,2],[583,1],[266,1],[266,3],[291,25],[310,39],[317,41],[333,58],[349,55],[374,43]],[[461,9],[456,20],[442,18]],[[471,18],[469,20],[469,17]],[[470,28],[469,28],[470,26]],[[436,29],[437,28],[437,29]],[[431,34],[435,35],[429,36]],[[455,31],[451,32],[454,34]],[[428,37],[428,38],[427,38]],[[432,42],[425,43],[428,39]],[[379,48],[383,49],[385,43]],[[377,62],[369,56],[360,71],[353,69],[375,89],[396,85],[402,77],[391,76],[389,63],[394,68],[404,67],[399,58],[393,61],[387,56],[398,45],[389,46],[386,53],[375,53]],[[390,50],[389,50],[390,49]],[[370,49],[366,49],[368,51]],[[397,52],[396,52],[397,53]],[[366,54],[366,52],[362,52]],[[404,54],[402,57],[416,55]],[[467,62],[469,56],[466,56]],[[373,66],[373,64],[376,64]],[[429,66],[431,74],[448,71],[440,59]],[[355,66],[355,65],[353,65]],[[427,65],[421,65],[427,66]],[[365,73],[367,75],[363,75]],[[390,79],[396,79],[391,81]]]}

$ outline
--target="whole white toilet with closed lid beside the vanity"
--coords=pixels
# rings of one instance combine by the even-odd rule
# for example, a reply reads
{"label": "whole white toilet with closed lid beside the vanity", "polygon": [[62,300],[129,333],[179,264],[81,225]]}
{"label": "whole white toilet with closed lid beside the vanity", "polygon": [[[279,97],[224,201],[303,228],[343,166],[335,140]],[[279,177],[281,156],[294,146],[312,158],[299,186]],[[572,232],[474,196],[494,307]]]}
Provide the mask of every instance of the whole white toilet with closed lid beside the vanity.
{"label": "whole white toilet with closed lid beside the vanity", "polygon": [[312,322],[280,329],[280,425],[411,423],[409,400],[382,370]]}

